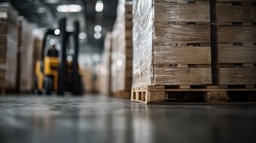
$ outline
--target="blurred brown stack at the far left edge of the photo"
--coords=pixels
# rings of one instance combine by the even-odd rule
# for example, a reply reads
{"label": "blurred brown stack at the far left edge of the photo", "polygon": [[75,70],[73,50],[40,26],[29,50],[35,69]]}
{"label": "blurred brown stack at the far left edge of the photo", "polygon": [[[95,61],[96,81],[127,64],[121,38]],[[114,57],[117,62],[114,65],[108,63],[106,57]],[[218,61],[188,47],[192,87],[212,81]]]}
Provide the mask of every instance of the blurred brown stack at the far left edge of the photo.
{"label": "blurred brown stack at the far left edge of the photo", "polygon": [[13,91],[17,80],[17,11],[0,4],[0,89]]}

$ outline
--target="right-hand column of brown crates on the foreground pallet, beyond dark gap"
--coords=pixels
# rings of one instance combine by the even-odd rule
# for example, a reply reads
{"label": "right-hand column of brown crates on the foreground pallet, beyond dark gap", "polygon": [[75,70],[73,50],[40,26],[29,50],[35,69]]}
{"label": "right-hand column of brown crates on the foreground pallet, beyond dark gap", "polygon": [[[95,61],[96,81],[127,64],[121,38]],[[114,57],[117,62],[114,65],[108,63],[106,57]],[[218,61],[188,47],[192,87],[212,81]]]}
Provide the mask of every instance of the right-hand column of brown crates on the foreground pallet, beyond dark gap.
{"label": "right-hand column of brown crates on the foreground pallet, beyond dark gap", "polygon": [[[256,85],[256,5],[254,0],[217,0],[214,10],[214,84]],[[215,32],[214,32],[215,33]]]}

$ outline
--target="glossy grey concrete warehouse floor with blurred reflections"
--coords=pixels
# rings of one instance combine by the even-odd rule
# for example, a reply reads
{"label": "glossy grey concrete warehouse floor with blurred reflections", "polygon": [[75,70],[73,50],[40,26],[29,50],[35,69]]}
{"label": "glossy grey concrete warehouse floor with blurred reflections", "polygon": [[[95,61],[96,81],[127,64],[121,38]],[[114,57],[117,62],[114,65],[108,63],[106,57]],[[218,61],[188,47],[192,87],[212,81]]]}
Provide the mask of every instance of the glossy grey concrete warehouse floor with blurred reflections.
{"label": "glossy grey concrete warehouse floor with blurred reflections", "polygon": [[256,142],[256,105],[1,96],[0,142]]}

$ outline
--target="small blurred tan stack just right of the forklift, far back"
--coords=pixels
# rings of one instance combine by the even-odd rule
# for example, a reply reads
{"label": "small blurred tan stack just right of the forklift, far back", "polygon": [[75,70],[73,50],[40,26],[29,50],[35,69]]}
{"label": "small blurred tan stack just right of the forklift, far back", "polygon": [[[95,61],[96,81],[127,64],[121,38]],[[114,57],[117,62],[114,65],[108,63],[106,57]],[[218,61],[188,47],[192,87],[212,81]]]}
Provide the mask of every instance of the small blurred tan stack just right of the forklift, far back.
{"label": "small blurred tan stack just right of the forklift, far back", "polygon": [[84,84],[85,93],[91,94],[94,86],[92,67],[84,67],[84,69],[82,69],[82,81]]}

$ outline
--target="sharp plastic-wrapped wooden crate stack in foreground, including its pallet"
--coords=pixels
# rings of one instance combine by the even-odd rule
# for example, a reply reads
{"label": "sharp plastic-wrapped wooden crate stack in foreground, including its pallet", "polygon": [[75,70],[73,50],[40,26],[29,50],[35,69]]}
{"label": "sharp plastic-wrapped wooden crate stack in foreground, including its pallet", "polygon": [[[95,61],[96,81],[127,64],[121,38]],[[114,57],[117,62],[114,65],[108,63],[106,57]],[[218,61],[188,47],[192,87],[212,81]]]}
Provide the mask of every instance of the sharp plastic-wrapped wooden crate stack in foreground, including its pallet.
{"label": "sharp plastic-wrapped wooden crate stack in foreground, including its pallet", "polygon": [[134,0],[131,100],[255,100],[255,8],[253,0]]}

